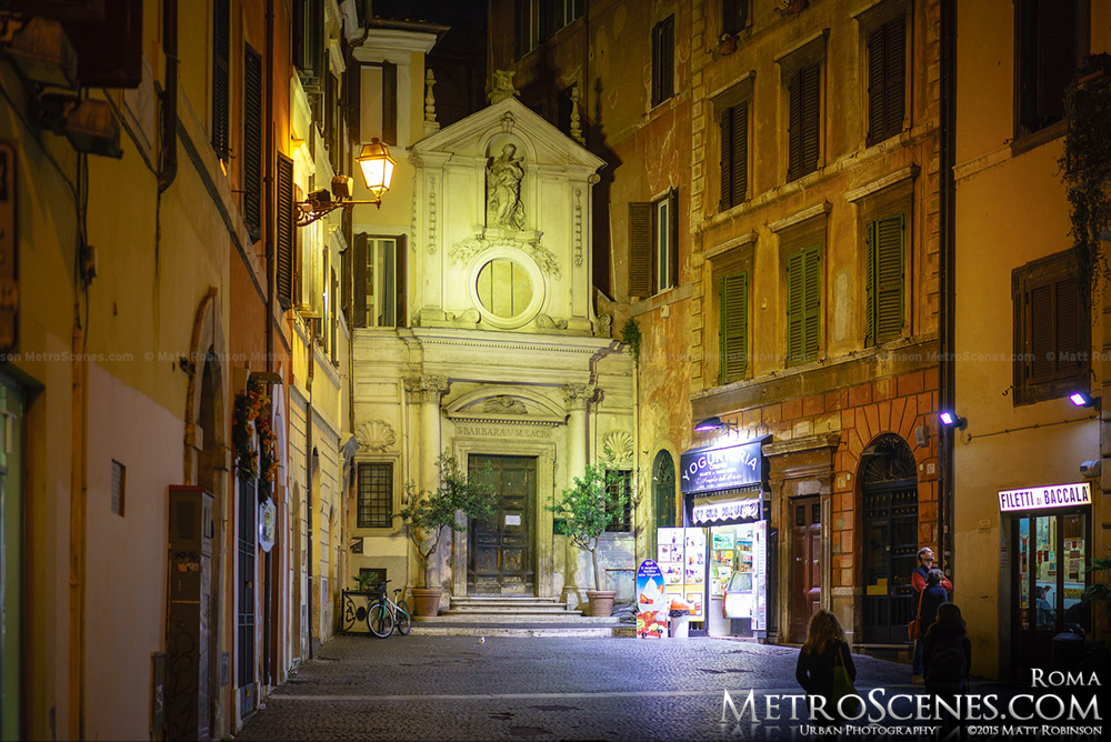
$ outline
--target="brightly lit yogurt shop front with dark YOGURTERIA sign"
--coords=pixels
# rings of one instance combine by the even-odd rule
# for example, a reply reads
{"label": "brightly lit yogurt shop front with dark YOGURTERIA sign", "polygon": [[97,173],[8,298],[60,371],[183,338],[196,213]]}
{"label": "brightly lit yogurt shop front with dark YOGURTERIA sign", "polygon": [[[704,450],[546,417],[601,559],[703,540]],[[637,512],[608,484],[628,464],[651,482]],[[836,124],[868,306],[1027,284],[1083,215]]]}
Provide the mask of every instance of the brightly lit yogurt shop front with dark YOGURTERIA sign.
{"label": "brightly lit yogurt shop front with dark YOGURTERIA sign", "polygon": [[691,606],[692,635],[762,638],[769,585],[762,441],[687,451],[680,469],[687,528],[658,534],[661,566],[663,558],[677,564],[682,547],[681,574],[664,569],[668,590]]}

